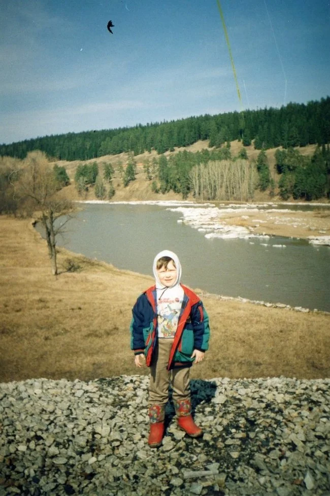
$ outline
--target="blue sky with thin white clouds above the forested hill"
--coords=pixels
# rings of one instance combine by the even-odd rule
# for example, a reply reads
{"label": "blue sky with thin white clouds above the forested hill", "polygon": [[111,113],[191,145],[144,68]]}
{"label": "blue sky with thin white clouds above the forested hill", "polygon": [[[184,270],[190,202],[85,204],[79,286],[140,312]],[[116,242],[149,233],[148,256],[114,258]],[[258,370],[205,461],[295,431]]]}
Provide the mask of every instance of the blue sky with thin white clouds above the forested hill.
{"label": "blue sky with thin white clouds above the forested hill", "polygon": [[330,94],[328,1],[221,7],[242,104],[216,0],[2,0],[0,143]]}

